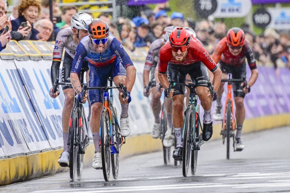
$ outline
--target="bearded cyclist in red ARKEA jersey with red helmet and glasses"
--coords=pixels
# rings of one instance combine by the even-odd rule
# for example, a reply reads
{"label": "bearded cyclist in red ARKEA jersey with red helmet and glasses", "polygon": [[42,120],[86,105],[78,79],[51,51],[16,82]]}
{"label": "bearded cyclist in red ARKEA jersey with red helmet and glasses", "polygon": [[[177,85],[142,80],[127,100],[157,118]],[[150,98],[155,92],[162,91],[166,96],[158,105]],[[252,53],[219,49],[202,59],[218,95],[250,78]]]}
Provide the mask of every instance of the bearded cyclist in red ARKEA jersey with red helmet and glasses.
{"label": "bearded cyclist in red ARKEA jersey with red helmet and glasses", "polygon": [[[159,52],[158,63],[158,78],[167,96],[169,83],[174,80],[175,83],[185,83],[186,74],[189,74],[192,82],[195,85],[209,82],[209,74],[206,67],[214,74],[214,100],[217,97],[216,91],[220,85],[222,72],[220,68],[213,61],[208,52],[202,45],[184,28],[176,28],[169,36],[167,42]],[[166,70],[168,70],[168,79],[166,77]],[[213,122],[211,119],[211,103],[212,99],[209,93],[209,88],[197,87],[197,95],[204,108],[204,124],[202,139],[208,141],[213,134]],[[183,87],[176,85],[174,89],[169,91],[168,98],[173,100],[173,127],[175,130],[176,148],[173,152],[173,158],[182,159],[182,142],[181,142],[181,128],[183,124],[183,101],[184,93]]]}

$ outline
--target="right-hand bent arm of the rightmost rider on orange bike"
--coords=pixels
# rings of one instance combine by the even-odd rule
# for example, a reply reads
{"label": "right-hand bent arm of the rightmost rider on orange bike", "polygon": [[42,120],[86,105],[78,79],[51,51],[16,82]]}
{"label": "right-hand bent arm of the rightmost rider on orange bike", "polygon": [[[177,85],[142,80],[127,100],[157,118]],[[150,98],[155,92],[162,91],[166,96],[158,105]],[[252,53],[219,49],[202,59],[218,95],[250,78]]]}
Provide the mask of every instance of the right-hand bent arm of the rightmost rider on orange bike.
{"label": "right-hand bent arm of the rightmost rider on orange bike", "polygon": [[245,43],[244,46],[245,46],[245,50],[246,50],[247,61],[248,61],[248,64],[249,64],[249,67],[250,67],[251,73],[252,73],[247,84],[251,87],[258,79],[258,69],[256,66],[256,60],[255,60],[255,56],[254,56],[254,53],[253,53],[251,46],[247,42]]}

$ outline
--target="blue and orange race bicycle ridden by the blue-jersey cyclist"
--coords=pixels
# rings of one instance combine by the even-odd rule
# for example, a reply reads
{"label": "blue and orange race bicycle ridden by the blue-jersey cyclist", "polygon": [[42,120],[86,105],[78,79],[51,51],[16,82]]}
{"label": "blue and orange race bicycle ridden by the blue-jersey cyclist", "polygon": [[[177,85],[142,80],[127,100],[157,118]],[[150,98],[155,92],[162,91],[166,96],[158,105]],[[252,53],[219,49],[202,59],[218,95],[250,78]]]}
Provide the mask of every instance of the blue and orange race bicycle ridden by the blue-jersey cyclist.
{"label": "blue and orange race bicycle ridden by the blue-jersey cyclist", "polygon": [[122,83],[119,83],[119,86],[113,86],[113,79],[111,79],[111,77],[109,77],[108,81],[110,81],[110,86],[104,87],[88,87],[87,84],[84,84],[81,94],[82,99],[87,90],[99,89],[103,91],[103,109],[100,119],[99,145],[101,146],[102,170],[105,181],[110,180],[110,164],[112,165],[113,178],[117,179],[119,173],[119,151],[121,146],[125,144],[125,137],[120,135],[117,111],[113,106],[112,89],[121,89],[124,100],[126,100],[127,97],[126,86]]}

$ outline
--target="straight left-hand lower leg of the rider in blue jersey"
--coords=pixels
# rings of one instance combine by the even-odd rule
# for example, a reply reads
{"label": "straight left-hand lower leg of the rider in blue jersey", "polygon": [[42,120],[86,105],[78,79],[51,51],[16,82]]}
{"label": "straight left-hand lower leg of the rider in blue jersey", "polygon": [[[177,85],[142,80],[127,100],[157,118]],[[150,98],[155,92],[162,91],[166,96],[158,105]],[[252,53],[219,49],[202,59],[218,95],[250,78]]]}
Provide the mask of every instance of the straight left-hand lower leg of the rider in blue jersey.
{"label": "straight left-hand lower leg of the rider in blue jersey", "polygon": [[101,147],[99,146],[99,128],[102,109],[103,103],[94,103],[91,105],[90,127],[93,133],[95,152],[101,152]]}

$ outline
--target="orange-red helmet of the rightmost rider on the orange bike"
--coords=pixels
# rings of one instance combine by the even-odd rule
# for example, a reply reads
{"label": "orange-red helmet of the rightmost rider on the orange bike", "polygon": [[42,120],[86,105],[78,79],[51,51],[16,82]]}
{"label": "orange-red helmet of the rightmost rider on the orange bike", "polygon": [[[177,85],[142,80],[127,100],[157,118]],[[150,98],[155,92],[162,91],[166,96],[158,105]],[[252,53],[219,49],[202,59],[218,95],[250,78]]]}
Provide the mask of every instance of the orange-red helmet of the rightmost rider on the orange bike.
{"label": "orange-red helmet of the rightmost rider on the orange bike", "polygon": [[241,28],[231,28],[226,34],[226,40],[232,46],[244,45],[245,33]]}

